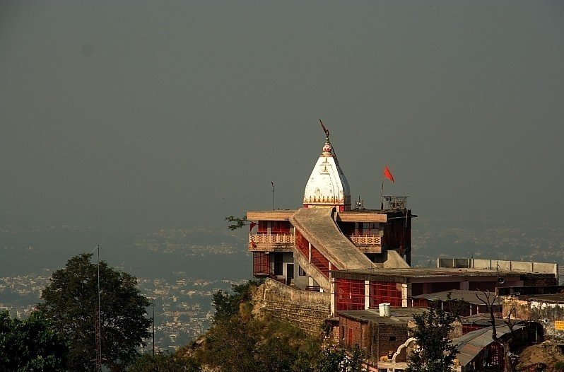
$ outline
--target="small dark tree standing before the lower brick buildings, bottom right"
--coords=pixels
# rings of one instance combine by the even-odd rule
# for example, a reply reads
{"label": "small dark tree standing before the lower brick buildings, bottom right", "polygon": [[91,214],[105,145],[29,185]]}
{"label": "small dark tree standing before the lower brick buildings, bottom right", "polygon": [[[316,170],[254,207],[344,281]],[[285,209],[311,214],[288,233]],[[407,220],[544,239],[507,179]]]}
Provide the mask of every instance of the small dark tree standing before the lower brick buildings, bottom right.
{"label": "small dark tree standing before the lower brick buildings, bottom right", "polygon": [[432,304],[428,311],[414,315],[418,349],[411,353],[406,372],[451,372],[456,348],[450,342],[452,322],[457,319],[453,313],[447,313]]}

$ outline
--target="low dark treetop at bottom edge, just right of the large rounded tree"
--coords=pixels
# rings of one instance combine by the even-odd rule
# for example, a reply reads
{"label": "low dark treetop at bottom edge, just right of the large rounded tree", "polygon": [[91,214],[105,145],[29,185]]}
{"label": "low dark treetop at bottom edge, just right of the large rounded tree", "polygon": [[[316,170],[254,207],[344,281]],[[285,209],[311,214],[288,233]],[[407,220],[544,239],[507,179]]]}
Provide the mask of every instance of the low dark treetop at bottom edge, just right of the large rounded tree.
{"label": "low dark treetop at bottom edge, just right of the large rounded tree", "polygon": [[199,372],[194,359],[182,358],[172,353],[139,354],[127,372]]}

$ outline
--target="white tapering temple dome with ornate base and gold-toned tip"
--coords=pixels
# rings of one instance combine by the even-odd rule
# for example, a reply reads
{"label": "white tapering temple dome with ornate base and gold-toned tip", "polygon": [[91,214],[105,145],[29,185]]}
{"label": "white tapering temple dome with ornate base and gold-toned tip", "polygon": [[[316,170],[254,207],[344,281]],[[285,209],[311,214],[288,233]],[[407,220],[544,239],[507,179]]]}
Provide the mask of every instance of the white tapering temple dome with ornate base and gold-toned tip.
{"label": "white tapering temple dome with ornate base and gold-toned tip", "polygon": [[339,211],[351,209],[351,190],[339,166],[329,136],[305,185],[303,206],[305,208],[337,207]]}

